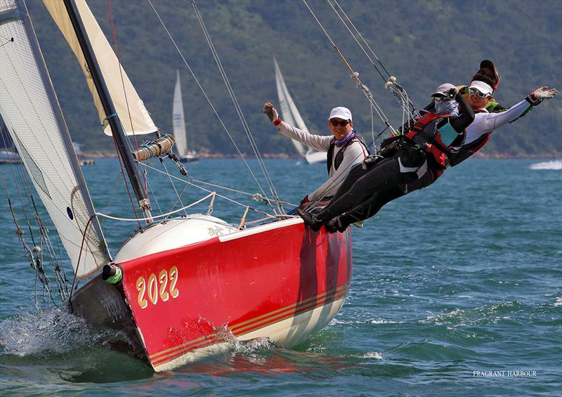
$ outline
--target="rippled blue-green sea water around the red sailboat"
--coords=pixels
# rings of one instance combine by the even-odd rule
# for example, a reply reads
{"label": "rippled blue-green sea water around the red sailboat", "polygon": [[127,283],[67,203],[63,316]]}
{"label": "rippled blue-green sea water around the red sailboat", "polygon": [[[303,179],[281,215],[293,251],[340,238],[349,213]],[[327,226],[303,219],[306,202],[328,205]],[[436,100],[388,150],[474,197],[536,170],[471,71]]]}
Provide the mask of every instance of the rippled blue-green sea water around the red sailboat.
{"label": "rippled blue-green sea water around the red sailboat", "polygon": [[[55,308],[35,311],[34,273],[2,192],[0,393],[558,394],[562,171],[531,169],[537,162],[465,162],[430,188],[388,204],[362,230],[353,228],[346,304],[296,348],[233,341],[228,353],[158,374],[105,349],[111,335]],[[98,211],[130,216],[115,164],[98,160],[84,173]],[[290,202],[325,178],[323,165],[266,164]],[[195,179],[258,192],[240,160],[203,160],[188,170]],[[1,171],[17,207],[10,168]],[[162,190],[162,209],[174,202],[163,190],[166,181],[151,180],[154,190]],[[188,188],[183,204],[202,195]],[[266,209],[247,196],[229,195]],[[217,199],[213,214],[236,221],[242,212]],[[110,221],[104,226],[114,252],[134,228]]]}

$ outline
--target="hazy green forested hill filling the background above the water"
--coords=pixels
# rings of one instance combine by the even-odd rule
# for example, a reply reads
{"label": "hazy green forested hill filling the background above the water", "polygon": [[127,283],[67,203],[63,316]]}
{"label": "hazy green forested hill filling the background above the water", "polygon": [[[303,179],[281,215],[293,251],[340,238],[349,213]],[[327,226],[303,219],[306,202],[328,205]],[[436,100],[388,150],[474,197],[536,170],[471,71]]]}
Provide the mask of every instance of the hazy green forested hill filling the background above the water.
{"label": "hazy green forested hill filling the background above the water", "polygon": [[[88,1],[113,42],[107,0]],[[246,134],[204,40],[190,1],[152,0],[235,138],[252,154]],[[98,126],[91,96],[72,52],[38,0],[28,0],[44,58],[74,141],[84,150],[112,152]],[[393,125],[398,104],[384,81],[326,1],[308,1],[362,82],[370,86]],[[562,89],[562,1],[346,1],[339,4],[391,74],[422,107],[443,82],[469,82],[480,60],[495,61],[502,82],[495,97],[513,105],[541,86]],[[119,57],[156,124],[171,131],[176,69],[182,78],[190,145],[232,154],[235,147],[211,110],[147,1],[111,1]],[[302,1],[197,1],[202,18],[262,153],[294,154],[287,138],[261,112],[277,103],[273,57],[311,131],[327,134],[331,108],[353,112],[355,128],[371,141],[371,111],[362,92]],[[1,60],[0,60],[1,61]],[[562,154],[562,95],[495,132],[483,150],[490,156]],[[375,119],[374,129],[382,129]]]}

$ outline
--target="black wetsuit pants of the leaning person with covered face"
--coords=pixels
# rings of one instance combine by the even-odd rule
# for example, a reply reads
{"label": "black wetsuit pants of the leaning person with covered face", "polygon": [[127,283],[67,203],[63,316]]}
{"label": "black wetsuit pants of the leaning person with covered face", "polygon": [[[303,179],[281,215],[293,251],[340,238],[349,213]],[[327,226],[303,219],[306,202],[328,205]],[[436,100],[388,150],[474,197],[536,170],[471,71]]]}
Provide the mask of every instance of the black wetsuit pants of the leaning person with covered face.
{"label": "black wetsuit pants of the leaning person with covered face", "polygon": [[315,219],[320,223],[327,223],[346,211],[353,211],[370,200],[377,200],[374,197],[382,192],[399,189],[400,186],[405,186],[407,183],[414,183],[426,174],[423,171],[421,174],[417,173],[426,167],[426,164],[425,152],[410,145],[404,145],[391,157],[370,164],[367,169],[363,169],[361,165],[355,166],[341,184],[332,201],[322,211],[315,214]]}

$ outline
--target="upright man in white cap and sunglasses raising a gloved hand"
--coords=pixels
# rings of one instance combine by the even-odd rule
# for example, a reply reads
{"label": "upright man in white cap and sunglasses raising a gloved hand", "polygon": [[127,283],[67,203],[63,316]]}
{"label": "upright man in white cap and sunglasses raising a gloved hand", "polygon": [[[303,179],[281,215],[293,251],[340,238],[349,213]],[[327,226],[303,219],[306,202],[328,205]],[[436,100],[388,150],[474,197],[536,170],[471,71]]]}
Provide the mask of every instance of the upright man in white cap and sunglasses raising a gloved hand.
{"label": "upright man in white cap and sunglasses raising a gloved hand", "polygon": [[301,204],[327,200],[332,197],[349,171],[355,165],[361,164],[369,154],[365,145],[355,136],[353,118],[348,108],[334,108],[329,113],[328,129],[332,136],[309,134],[307,131],[282,121],[275,107],[269,102],[263,105],[263,112],[273,125],[277,126],[280,134],[299,141],[309,148],[327,152],[326,165],[329,178],[312,193],[308,193]]}

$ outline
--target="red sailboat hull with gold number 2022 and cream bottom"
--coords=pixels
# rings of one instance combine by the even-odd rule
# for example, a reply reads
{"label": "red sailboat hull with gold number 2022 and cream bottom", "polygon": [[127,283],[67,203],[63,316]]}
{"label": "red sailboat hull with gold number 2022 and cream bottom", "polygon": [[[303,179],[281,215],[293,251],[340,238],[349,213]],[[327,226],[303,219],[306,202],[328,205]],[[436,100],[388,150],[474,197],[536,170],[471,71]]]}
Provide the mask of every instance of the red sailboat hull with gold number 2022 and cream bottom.
{"label": "red sailboat hull with gold number 2022 and cream bottom", "polygon": [[119,265],[148,359],[168,370],[232,334],[289,347],[329,323],[351,281],[351,237],[292,219]]}

